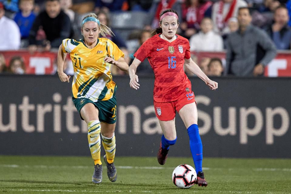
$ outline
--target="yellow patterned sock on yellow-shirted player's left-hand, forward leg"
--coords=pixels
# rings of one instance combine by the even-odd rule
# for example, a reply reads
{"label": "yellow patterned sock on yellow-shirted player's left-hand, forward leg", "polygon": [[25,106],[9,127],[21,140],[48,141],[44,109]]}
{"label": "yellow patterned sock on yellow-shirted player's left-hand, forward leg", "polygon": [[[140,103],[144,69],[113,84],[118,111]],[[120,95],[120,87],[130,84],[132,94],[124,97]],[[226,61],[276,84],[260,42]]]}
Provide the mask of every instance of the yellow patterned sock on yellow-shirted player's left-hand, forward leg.
{"label": "yellow patterned sock on yellow-shirted player's left-hand, forward leg", "polygon": [[[100,139],[101,125],[99,120],[93,120],[88,123],[88,143],[94,164],[102,164],[100,160],[101,139]],[[95,162],[97,161],[97,162]]]}

